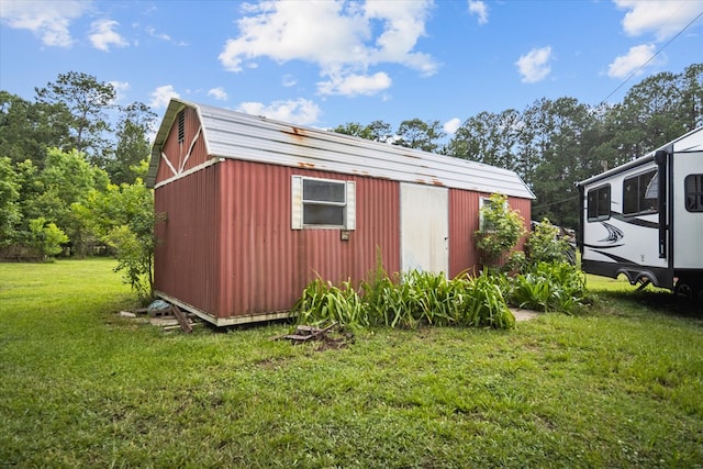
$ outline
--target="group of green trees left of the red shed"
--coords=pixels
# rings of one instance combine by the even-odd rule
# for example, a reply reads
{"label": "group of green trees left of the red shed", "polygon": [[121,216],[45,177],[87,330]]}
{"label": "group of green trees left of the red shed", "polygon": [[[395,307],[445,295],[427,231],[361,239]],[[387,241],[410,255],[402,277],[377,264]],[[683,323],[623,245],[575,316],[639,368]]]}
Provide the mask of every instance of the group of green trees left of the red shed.
{"label": "group of green trees left of the red shed", "polygon": [[24,100],[0,90],[0,259],[115,254],[150,292],[154,199],[143,179],[156,114],[68,72]]}

